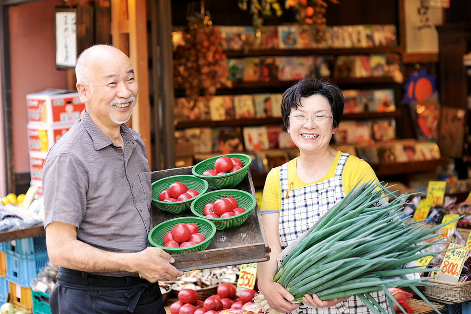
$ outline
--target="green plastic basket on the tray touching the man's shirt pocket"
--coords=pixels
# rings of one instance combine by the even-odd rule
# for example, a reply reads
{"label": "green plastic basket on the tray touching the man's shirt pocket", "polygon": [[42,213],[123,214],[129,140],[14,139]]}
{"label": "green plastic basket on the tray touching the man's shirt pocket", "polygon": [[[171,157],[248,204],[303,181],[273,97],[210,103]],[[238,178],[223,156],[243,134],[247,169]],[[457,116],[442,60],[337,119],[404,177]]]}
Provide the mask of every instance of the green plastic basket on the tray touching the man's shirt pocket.
{"label": "green plastic basket on the tray touching the man's shirt pocket", "polygon": [[[160,192],[162,192],[163,190],[168,190],[169,186],[174,182],[181,182],[185,184],[189,190],[195,190],[200,194],[196,197],[192,197],[188,200],[180,202],[159,201],[158,195],[160,194]],[[152,201],[157,206],[157,208],[163,211],[178,214],[190,209],[191,202],[196,200],[196,198],[198,198],[201,194],[206,193],[206,191],[208,191],[208,186],[209,185],[207,181],[192,175],[176,175],[163,178],[152,183]]]}

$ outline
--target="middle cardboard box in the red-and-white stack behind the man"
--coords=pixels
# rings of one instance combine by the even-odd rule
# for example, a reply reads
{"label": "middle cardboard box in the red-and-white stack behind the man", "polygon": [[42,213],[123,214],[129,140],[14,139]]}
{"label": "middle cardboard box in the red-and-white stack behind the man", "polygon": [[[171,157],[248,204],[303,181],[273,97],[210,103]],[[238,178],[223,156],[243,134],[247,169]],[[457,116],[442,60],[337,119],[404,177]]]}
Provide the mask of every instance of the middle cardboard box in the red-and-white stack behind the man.
{"label": "middle cardboard box in the red-and-white stack behind the man", "polygon": [[49,152],[52,145],[57,142],[73,126],[48,126],[39,122],[30,122],[27,125],[29,152]]}

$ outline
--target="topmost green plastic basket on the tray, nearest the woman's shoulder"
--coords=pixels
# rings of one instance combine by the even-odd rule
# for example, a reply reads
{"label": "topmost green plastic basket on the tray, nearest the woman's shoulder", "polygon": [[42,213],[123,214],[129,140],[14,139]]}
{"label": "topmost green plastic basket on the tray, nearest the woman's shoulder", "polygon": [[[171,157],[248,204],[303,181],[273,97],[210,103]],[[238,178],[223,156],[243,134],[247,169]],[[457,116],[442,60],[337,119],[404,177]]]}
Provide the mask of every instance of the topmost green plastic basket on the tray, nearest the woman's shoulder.
{"label": "topmost green plastic basket on the tray, nearest the woman's shoulder", "polygon": [[[203,176],[203,172],[209,169],[214,169],[214,162],[217,158],[227,156],[229,158],[236,157],[242,161],[242,168],[237,171],[230,172],[226,175],[220,176]],[[245,154],[227,154],[220,155],[216,157],[211,157],[197,163],[193,168],[191,168],[191,173],[200,179],[208,181],[208,184],[213,189],[219,188],[232,188],[235,185],[239,184],[249,171],[249,167],[252,164],[252,157]]]}

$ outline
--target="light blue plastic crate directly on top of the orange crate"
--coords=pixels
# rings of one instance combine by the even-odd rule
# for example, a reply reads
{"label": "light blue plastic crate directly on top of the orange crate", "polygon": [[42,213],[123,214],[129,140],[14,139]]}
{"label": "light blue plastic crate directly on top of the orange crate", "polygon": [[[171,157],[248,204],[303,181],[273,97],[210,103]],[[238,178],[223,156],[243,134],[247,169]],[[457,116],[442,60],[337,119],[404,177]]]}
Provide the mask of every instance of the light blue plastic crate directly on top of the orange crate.
{"label": "light blue plastic crate directly on top of the orange crate", "polygon": [[29,282],[36,277],[41,268],[46,266],[49,261],[47,252],[35,254],[34,260],[18,258],[9,253],[5,253],[5,255],[6,278],[8,281],[22,287],[29,287]]}

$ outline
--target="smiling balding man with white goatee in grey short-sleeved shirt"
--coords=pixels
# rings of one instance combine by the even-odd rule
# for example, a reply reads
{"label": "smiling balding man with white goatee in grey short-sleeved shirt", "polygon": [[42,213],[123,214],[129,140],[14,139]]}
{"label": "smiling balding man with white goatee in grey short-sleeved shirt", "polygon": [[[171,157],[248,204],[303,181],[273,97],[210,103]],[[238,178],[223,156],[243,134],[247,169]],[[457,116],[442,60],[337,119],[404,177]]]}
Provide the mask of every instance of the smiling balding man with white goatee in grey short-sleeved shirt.
{"label": "smiling balding man with white goatee in grey short-sleeved shirt", "polygon": [[111,46],[82,52],[80,119],[44,164],[46,242],[60,267],[56,313],[164,314],[158,280],[175,280],[166,252],[150,247],[151,172],[131,118],[138,86],[131,61]]}

